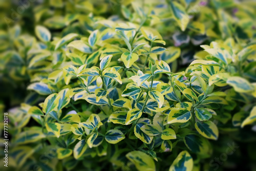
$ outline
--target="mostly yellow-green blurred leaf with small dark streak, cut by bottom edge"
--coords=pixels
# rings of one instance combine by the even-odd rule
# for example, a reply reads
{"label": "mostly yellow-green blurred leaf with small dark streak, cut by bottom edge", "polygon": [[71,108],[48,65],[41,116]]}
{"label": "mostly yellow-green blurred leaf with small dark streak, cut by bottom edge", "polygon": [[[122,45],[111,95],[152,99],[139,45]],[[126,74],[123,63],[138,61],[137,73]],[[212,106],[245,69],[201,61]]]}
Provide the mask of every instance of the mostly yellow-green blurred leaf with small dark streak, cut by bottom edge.
{"label": "mostly yellow-green blurred leaf with small dark streak, cut by bottom edge", "polygon": [[125,155],[127,159],[133,162],[138,170],[155,171],[156,166],[152,157],[140,151],[133,151]]}

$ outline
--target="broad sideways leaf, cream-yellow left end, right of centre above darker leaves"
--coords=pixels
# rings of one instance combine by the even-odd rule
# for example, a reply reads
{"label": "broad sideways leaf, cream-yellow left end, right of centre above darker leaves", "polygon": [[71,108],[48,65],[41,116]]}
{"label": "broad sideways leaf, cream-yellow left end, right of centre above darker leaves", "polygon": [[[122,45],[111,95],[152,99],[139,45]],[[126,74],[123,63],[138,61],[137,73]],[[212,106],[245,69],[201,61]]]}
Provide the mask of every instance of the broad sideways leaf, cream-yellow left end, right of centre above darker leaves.
{"label": "broad sideways leaf, cream-yellow left end, right of centre above darker leaves", "polygon": [[174,108],[168,115],[168,123],[185,123],[191,118],[191,113],[183,108]]}

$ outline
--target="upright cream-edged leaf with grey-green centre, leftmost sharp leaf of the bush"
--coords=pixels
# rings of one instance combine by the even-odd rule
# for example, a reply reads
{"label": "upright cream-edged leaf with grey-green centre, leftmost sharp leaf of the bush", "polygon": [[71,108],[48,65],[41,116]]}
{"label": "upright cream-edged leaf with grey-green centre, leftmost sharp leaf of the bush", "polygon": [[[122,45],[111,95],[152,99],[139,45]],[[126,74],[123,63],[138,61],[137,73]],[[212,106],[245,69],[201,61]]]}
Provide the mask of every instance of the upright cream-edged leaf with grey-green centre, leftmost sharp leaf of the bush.
{"label": "upright cream-edged leaf with grey-green centre, leftmost sharp leaf of the bush", "polygon": [[44,111],[46,114],[54,111],[55,109],[57,109],[58,106],[58,101],[59,101],[60,96],[58,96],[57,93],[51,94],[50,96],[48,96],[45,99],[44,102]]}

